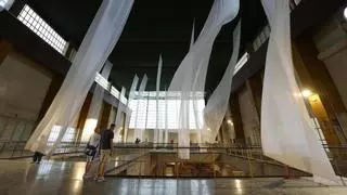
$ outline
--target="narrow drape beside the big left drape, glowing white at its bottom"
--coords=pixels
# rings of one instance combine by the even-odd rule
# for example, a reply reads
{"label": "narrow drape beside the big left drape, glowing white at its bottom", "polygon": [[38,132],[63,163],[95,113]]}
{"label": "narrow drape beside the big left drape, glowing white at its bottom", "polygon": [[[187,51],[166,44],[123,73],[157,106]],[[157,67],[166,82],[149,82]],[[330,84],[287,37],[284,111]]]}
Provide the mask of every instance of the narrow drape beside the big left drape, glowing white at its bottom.
{"label": "narrow drape beside the big left drape, glowing white at its bottom", "polygon": [[[105,63],[101,76],[105,79],[108,78],[113,64],[108,61]],[[98,125],[102,102],[104,99],[105,89],[99,84],[94,88],[93,98],[91,99],[91,103],[89,106],[87,119],[82,130],[81,141],[87,142],[90,135],[94,132],[94,129]]]}

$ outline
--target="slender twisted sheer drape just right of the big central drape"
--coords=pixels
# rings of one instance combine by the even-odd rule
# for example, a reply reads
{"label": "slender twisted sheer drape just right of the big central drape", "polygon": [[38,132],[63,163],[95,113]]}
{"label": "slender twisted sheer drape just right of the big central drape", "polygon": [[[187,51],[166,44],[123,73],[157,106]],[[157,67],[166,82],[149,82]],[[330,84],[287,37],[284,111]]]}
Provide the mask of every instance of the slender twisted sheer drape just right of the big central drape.
{"label": "slender twisted sheer drape just right of the big central drape", "polygon": [[206,131],[204,132],[204,138],[206,139],[205,141],[209,143],[215,142],[215,139],[218,134],[219,128],[223,121],[223,118],[228,109],[233,73],[239,56],[240,32],[241,22],[239,22],[233,32],[233,50],[231,58],[229,61],[229,65],[218,87],[208,99],[207,104],[204,108],[204,119],[206,129]]}

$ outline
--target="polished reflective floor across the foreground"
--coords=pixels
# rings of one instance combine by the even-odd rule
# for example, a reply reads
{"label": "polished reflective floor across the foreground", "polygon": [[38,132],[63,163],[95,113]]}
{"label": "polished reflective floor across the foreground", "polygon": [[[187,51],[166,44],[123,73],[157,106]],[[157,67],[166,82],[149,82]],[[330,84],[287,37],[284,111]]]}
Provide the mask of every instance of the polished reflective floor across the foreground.
{"label": "polished reflective floor across the foreground", "polygon": [[83,181],[85,164],[76,161],[0,160],[0,194],[121,194],[121,195],[346,195],[347,187],[321,186],[308,180],[264,179],[120,179]]}

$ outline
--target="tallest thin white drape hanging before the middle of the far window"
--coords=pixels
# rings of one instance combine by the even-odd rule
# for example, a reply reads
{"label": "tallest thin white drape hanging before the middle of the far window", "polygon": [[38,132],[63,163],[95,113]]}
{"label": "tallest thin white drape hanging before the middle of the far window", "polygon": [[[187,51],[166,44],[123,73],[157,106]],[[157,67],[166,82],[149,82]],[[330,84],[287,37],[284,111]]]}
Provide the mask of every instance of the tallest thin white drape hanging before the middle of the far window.
{"label": "tallest thin white drape hanging before the middle of the far window", "polygon": [[[154,130],[154,143],[162,143],[162,130],[159,128],[159,91],[160,91],[160,76],[162,76],[162,66],[163,66],[163,58],[159,55],[158,61],[158,70],[156,74],[156,129]],[[162,107],[162,106],[160,106]]]}

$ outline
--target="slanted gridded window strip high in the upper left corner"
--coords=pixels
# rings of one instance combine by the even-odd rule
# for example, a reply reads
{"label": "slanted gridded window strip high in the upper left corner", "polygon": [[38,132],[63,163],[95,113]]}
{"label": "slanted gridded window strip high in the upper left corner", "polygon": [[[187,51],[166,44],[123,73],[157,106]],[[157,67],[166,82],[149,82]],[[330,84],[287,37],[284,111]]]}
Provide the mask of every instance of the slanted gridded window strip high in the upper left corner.
{"label": "slanted gridded window strip high in the upper left corner", "polygon": [[66,41],[56,34],[30,6],[24,5],[18,15],[18,20],[30,28],[36,35],[42,38],[56,51],[64,54]]}

